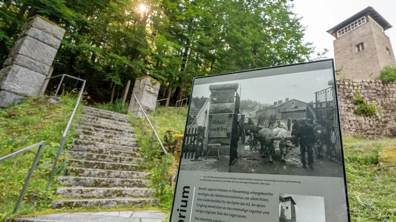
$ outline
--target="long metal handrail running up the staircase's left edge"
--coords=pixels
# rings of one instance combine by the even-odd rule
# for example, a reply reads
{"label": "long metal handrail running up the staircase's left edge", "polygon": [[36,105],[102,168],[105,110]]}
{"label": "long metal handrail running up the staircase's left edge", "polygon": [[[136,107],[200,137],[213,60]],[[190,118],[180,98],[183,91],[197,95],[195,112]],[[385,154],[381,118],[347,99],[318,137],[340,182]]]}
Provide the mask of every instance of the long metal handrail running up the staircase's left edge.
{"label": "long metal handrail running up the staircase's left edge", "polygon": [[[63,74],[63,77],[64,77],[65,75],[66,75],[66,74]],[[66,75],[66,76],[69,76],[69,75]],[[63,77],[62,77],[62,80],[63,80]],[[75,77],[74,77],[74,78],[75,78]],[[78,78],[75,78],[75,79],[78,79]],[[63,132],[61,145],[59,146],[58,153],[56,154],[55,161],[53,162],[51,175],[49,175],[49,180],[48,180],[48,184],[47,184],[47,187],[46,187],[46,192],[48,192],[49,186],[51,186],[51,182],[52,182],[52,179],[53,179],[53,175],[54,175],[54,173],[55,173],[56,164],[57,164],[57,162],[58,162],[59,156],[61,155],[61,152],[63,151],[63,146],[65,146],[65,141],[66,141],[66,138],[67,138],[67,134],[69,133],[70,127],[71,127],[72,122],[73,122],[73,120],[74,120],[74,116],[76,115],[76,111],[77,111],[77,108],[78,108],[78,104],[80,103],[80,100],[81,100],[81,97],[82,97],[82,93],[84,92],[85,83],[87,82],[87,81],[84,80],[84,79],[79,79],[79,80],[82,80],[83,83],[82,83],[82,86],[81,86],[81,89],[80,89],[80,93],[78,94],[77,102],[76,102],[76,105],[74,106],[72,115],[70,116],[69,122],[67,123],[67,126],[66,126],[66,128],[65,128],[65,131]],[[61,82],[62,82],[62,81],[61,81]],[[61,85],[61,84],[59,83],[59,86],[60,86],[60,85]],[[58,86],[58,88],[59,88],[59,86]],[[56,95],[56,93],[55,93],[55,95]]]}

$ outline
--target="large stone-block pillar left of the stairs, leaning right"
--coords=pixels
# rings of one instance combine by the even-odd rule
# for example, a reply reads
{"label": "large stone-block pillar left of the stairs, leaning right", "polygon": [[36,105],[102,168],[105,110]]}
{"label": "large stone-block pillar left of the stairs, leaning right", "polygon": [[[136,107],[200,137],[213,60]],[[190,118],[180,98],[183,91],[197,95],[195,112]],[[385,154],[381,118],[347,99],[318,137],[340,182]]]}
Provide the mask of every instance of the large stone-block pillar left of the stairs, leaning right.
{"label": "large stone-block pillar left of the stairs, leaning right", "polygon": [[38,94],[64,34],[38,15],[26,21],[0,70],[0,107]]}

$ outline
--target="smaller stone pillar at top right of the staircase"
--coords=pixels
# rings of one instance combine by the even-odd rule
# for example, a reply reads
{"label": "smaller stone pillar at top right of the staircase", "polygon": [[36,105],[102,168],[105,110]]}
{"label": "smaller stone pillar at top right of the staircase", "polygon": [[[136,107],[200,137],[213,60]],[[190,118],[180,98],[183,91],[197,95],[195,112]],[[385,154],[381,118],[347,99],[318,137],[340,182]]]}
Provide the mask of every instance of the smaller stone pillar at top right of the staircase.
{"label": "smaller stone pillar at top right of the staircase", "polygon": [[[136,79],[135,85],[133,86],[131,101],[129,102],[128,113],[135,113],[139,111],[139,105],[135,101],[133,94],[135,94],[140,105],[142,105],[147,115],[154,113],[158,93],[160,92],[160,83],[155,79],[144,76]],[[138,115],[142,115],[138,113]]]}

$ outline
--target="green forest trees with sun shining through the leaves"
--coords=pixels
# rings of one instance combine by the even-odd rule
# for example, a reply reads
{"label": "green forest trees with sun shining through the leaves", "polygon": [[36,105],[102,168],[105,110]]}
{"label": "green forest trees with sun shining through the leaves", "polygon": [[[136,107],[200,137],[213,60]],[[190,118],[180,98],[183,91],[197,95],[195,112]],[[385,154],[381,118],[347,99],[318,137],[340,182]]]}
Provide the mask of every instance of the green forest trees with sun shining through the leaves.
{"label": "green forest trees with sun shining through the leaves", "polygon": [[53,75],[87,79],[95,102],[144,75],[176,100],[193,77],[324,58],[326,49],[311,58],[292,8],[289,0],[2,0],[0,63],[39,14],[66,30]]}

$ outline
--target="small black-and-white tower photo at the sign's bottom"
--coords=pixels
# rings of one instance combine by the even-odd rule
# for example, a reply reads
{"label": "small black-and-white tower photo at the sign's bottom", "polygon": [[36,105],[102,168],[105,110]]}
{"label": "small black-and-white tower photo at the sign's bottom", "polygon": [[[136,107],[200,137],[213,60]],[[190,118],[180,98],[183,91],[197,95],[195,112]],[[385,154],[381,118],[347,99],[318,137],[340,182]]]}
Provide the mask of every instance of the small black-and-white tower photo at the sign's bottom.
{"label": "small black-and-white tower photo at the sign's bottom", "polygon": [[324,197],[280,194],[279,222],[326,222]]}

